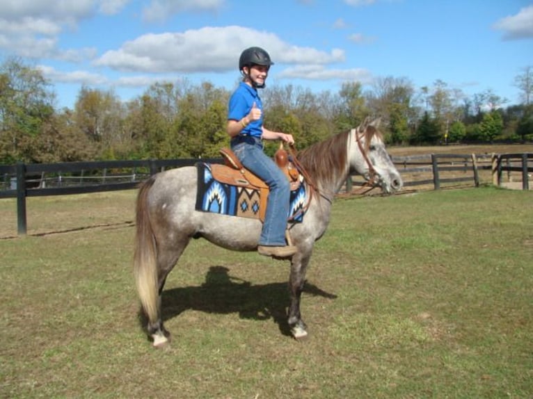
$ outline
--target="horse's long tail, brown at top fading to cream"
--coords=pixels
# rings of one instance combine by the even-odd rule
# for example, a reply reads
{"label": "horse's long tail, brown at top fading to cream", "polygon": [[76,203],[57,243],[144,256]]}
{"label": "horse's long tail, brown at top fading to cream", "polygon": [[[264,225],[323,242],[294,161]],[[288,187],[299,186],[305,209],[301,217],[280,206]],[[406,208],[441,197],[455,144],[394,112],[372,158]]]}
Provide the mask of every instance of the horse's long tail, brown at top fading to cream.
{"label": "horse's long tail, brown at top fading to cream", "polygon": [[148,192],[155,178],[141,184],[136,204],[136,234],[134,252],[134,276],[139,298],[150,323],[159,319],[159,287],[157,282],[157,247],[155,244],[150,214]]}

